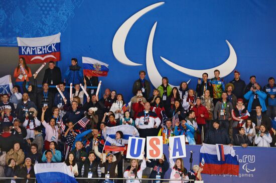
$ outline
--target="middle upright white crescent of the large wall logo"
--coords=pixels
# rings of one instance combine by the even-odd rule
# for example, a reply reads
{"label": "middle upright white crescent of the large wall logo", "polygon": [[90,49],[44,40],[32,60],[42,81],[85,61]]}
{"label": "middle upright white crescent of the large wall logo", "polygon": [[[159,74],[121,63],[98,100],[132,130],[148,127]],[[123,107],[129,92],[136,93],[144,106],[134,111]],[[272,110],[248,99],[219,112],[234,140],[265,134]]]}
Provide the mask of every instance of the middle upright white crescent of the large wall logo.
{"label": "middle upright white crescent of the large wall logo", "polygon": [[[150,78],[152,84],[155,86],[155,88],[157,88],[162,82],[162,76],[160,75],[159,71],[156,68],[156,65],[154,62],[154,57],[153,57],[153,41],[154,41],[156,25],[157,25],[157,21],[153,25],[150,36],[149,36],[148,46],[147,46],[147,55],[146,55],[147,72],[148,72],[149,78]],[[187,81],[187,84],[190,82],[190,80]],[[179,88],[179,86],[174,86],[172,84],[170,84],[170,85],[172,87]]]}

